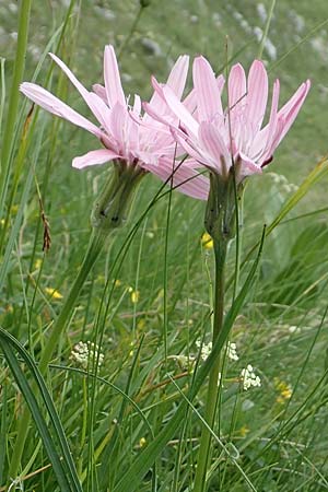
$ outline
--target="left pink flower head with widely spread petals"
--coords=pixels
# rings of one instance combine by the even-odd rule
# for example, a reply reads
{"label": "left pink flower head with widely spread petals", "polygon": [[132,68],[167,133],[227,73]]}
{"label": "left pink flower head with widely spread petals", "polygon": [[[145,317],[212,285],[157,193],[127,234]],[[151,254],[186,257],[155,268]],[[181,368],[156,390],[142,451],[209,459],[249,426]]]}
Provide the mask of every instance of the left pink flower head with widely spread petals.
{"label": "left pink flower head with widely spread petals", "polygon": [[[179,191],[194,198],[207,199],[208,179],[199,175],[192,163],[179,165],[175,162],[176,142],[168,128],[153,120],[149,115],[141,115],[139,95],[134,95],[133,105],[129,105],[129,98],[126,98],[122,91],[113,46],[105,47],[105,86],[95,84],[92,92],[78,81],[58,57],[52,54],[50,56],[80,92],[98,125],[94,125],[39,85],[24,82],[21,91],[44,109],[84,128],[102,142],[104,145],[102,149],[74,157],[73,167],[82,169],[117,160],[140,166],[164,181],[171,180],[172,176],[173,186]],[[187,56],[179,57],[167,80],[167,87],[177,101],[180,101],[185,89],[188,62]],[[165,104],[156,93],[150,105],[154,112],[163,112],[163,106],[165,108]]]}

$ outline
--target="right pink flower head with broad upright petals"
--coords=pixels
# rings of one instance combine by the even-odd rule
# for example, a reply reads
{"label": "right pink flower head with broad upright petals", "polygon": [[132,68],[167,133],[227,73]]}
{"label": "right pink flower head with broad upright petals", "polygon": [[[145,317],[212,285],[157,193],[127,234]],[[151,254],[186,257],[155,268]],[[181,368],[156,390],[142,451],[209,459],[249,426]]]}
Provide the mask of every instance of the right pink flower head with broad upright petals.
{"label": "right pink flower head with broad upright petals", "polygon": [[147,104],[145,110],[169,125],[190,157],[210,171],[226,176],[234,163],[238,183],[245,176],[261,173],[272,161],[274,150],[294,122],[311,86],[308,80],[304,82],[278,110],[280,84],[276,80],[269,122],[261,128],[268,102],[268,75],[261,61],[253,62],[247,80],[241,63],[233,66],[227,82],[230,109],[225,110],[221,101],[224,79],[215,79],[203,57],[195,59],[192,77],[197,112],[189,112],[169,86],[156,82],[154,89],[174,113],[178,125]]}

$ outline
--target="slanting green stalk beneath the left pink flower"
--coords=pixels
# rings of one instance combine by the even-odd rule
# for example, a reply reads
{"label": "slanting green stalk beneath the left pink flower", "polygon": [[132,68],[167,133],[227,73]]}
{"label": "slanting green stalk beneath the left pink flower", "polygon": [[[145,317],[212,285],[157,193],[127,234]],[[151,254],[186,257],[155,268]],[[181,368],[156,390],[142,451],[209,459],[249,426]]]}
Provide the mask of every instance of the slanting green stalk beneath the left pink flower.
{"label": "slanting green stalk beneath the left pink flower", "polygon": [[[58,347],[58,341],[71,317],[71,313],[75,305],[77,298],[81,292],[81,289],[87,278],[90,270],[92,269],[103,248],[105,239],[106,235],[101,230],[94,231],[91,236],[89,248],[84,257],[82,267],[78,273],[78,277],[75,278],[75,281],[71,288],[68,297],[66,298],[62,309],[51,329],[50,337],[48,338],[45,348],[43,350],[43,354],[39,362],[39,371],[43,375],[45,374],[48,367],[48,364],[52,358],[56,347]],[[25,441],[28,433],[30,422],[31,422],[31,413],[28,407],[25,406],[23,413],[20,418],[20,423],[17,427],[17,437],[10,462],[9,477],[11,478],[15,478],[17,476],[22,454],[25,446]]]}

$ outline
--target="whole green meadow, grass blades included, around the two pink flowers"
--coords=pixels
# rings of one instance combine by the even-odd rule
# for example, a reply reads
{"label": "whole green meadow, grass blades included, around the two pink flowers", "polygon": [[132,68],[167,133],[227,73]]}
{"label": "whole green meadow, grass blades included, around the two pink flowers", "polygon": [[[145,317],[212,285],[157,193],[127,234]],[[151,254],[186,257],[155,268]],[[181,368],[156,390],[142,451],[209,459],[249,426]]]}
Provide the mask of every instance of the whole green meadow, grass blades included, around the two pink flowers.
{"label": "whole green meadow, grass blades included, around the two pink flowers", "polygon": [[[262,59],[280,106],[312,81],[272,163],[246,180],[229,245],[230,345],[202,492],[328,490],[327,2],[31,3],[28,15],[30,0],[0,0],[0,491],[194,491],[212,363],[206,202],[145,176],[39,364],[113,169],[72,168],[96,138],[32,107],[17,84],[38,83],[92,119],[47,54],[90,90],[103,83],[107,44],[126,95],[144,101],[151,75],[165,82],[181,54],[224,75]],[[260,385],[245,389],[248,365]]]}

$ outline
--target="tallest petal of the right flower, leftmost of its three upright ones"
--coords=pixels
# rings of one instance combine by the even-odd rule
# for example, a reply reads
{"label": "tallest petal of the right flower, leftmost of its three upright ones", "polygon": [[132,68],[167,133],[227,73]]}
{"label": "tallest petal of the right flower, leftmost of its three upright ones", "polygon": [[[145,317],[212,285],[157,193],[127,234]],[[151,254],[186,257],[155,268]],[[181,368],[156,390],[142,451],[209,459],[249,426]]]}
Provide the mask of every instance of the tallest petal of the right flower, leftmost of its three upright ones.
{"label": "tallest petal of the right flower, leftmost of its three upright ones", "polygon": [[200,121],[211,121],[223,114],[221,94],[214,72],[203,57],[197,57],[192,66],[194,85],[198,97],[198,115]]}

